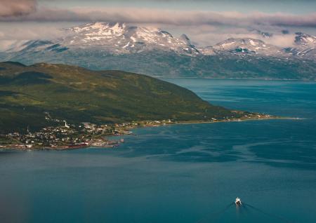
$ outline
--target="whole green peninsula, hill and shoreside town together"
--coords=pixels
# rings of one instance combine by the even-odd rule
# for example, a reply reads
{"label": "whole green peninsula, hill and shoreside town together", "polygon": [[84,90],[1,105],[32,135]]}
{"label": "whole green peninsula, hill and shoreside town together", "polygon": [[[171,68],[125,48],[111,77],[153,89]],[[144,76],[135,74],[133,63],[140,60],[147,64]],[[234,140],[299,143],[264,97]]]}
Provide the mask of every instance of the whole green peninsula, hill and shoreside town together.
{"label": "whole green peninsula, hill and shoreside town together", "polygon": [[0,148],[113,147],[107,135],[174,123],[272,119],[209,104],[142,74],[70,65],[0,63]]}

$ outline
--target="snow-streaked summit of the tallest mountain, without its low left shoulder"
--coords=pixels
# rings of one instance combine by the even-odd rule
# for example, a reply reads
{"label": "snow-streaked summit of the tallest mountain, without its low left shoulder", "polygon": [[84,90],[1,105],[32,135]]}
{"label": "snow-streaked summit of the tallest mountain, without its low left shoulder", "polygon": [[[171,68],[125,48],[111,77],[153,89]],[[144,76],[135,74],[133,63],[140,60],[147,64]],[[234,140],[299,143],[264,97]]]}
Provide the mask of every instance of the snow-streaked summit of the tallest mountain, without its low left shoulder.
{"label": "snow-streaked summit of the tallest mountain, without its low left shoulder", "polygon": [[199,51],[187,36],[173,37],[169,32],[152,27],[129,26],[125,23],[94,22],[67,29],[61,44],[70,48],[98,47],[112,53],[139,53],[144,50],[173,50],[197,55]]}

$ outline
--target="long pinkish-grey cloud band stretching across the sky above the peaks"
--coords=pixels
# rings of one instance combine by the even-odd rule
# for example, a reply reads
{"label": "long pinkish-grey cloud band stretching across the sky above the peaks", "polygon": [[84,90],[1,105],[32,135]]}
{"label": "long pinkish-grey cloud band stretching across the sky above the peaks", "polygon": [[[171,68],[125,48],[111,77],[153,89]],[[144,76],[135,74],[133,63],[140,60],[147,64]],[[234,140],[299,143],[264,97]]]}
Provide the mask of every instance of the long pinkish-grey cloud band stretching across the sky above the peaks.
{"label": "long pinkish-grey cloud band stretching across the sky above the peaks", "polygon": [[[3,1],[3,0],[2,0]],[[7,1],[7,0],[5,0]],[[21,1],[34,3],[34,1]],[[27,4],[26,4],[27,5]],[[22,11],[20,11],[22,12]],[[165,25],[270,25],[282,27],[316,27],[316,13],[294,15],[285,13],[239,13],[234,11],[174,11],[162,8],[45,8],[18,14],[7,13],[1,21],[74,22],[106,21]],[[21,16],[22,15],[22,16]]]}

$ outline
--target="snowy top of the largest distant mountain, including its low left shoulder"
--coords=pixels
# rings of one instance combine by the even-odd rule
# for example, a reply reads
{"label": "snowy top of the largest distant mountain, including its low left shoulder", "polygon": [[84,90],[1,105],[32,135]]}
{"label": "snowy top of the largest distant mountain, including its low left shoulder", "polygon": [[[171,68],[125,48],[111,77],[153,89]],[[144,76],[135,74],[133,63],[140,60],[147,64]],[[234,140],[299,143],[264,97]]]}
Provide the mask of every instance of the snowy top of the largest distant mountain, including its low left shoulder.
{"label": "snowy top of the largest distant mountain, including its low left shoulder", "polygon": [[98,48],[109,53],[140,53],[145,50],[169,50],[178,54],[198,55],[185,34],[179,38],[152,27],[129,26],[125,23],[93,22],[65,29],[65,36],[49,41],[15,41],[6,46],[7,53],[33,50],[67,50]]}

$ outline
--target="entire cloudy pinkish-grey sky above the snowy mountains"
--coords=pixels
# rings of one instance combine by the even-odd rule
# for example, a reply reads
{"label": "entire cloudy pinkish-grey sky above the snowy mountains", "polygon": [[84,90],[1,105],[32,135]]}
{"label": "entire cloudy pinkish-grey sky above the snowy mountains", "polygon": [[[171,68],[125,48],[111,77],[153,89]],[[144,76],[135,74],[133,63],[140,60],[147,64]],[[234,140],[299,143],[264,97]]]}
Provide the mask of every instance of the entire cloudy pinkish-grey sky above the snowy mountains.
{"label": "entire cloudy pinkish-grey sky above the snowy mountains", "polygon": [[291,46],[295,32],[316,34],[313,0],[0,0],[0,39],[51,39],[61,27],[86,22],[127,22],[182,33],[199,46],[229,37]]}

